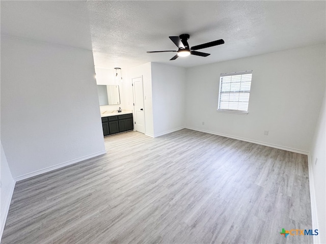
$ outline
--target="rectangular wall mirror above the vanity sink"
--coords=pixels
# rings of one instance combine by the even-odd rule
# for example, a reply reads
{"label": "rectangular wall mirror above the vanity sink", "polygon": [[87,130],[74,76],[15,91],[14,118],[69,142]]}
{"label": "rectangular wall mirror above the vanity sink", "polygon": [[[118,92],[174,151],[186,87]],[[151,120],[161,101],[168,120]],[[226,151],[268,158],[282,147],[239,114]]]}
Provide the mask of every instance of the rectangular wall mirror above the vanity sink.
{"label": "rectangular wall mirror above the vanity sink", "polygon": [[100,106],[120,104],[119,85],[97,85]]}

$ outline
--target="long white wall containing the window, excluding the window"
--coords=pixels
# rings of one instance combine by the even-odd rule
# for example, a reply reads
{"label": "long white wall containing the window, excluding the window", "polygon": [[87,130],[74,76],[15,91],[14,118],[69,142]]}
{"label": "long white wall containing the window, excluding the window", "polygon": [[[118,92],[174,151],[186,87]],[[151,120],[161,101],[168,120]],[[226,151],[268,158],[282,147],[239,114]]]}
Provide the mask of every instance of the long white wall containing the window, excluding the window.
{"label": "long white wall containing the window, excluding the window", "polygon": [[[245,70],[253,70],[248,115],[216,111],[220,74]],[[187,128],[310,150],[325,89],[325,45],[193,67],[186,78]]]}

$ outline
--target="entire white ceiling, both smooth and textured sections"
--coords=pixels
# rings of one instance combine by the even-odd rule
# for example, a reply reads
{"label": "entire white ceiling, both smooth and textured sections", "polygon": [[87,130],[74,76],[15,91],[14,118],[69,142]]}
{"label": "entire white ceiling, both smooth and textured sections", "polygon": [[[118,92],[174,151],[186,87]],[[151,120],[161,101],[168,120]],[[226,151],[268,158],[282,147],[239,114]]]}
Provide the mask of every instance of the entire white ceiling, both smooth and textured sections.
{"label": "entire white ceiling, both smooth and textured sections", "polygon": [[[325,1],[1,1],[1,33],[93,49],[96,67],[193,67],[325,43]],[[170,61],[169,36],[189,34],[208,57]]]}

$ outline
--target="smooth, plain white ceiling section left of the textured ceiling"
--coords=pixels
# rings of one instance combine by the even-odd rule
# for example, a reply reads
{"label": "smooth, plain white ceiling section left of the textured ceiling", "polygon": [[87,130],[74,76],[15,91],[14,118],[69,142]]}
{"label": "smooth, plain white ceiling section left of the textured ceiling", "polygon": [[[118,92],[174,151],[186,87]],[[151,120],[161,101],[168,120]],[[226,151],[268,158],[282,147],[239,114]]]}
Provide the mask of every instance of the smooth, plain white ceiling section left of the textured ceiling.
{"label": "smooth, plain white ceiling section left of the textured ceiling", "polygon": [[86,1],[0,1],[1,34],[92,49]]}

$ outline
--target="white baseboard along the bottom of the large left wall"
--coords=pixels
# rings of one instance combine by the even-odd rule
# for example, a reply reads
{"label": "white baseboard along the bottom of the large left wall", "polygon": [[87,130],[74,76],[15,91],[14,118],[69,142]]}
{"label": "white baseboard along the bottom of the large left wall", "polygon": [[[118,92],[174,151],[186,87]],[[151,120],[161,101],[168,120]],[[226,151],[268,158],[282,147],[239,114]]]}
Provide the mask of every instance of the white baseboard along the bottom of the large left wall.
{"label": "white baseboard along the bottom of the large left wall", "polygon": [[80,161],[84,161],[84,160],[87,160],[87,159],[94,158],[96,156],[103,155],[103,154],[106,154],[106,150],[99,151],[98,153],[90,154],[90,155],[87,155],[87,156],[84,156],[84,157],[80,157],[78,159],[69,160],[67,162],[57,164],[57,165],[53,165],[53,166],[50,166],[50,167],[47,167],[47,168],[44,168],[44,169],[36,170],[36,171],[28,173],[28,174],[23,174],[23,175],[20,175],[18,177],[15,177],[14,180],[19,181],[19,180],[27,179],[27,178],[30,178],[30,177],[33,177],[33,176],[36,176],[36,175],[39,175],[39,174],[43,174],[43,173],[46,173],[46,172],[49,172],[49,171],[52,171],[52,170],[55,170],[55,169],[59,169],[59,168],[68,166],[70,164],[75,164],[75,163],[78,163]]}

